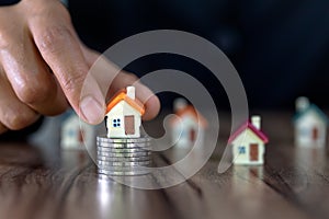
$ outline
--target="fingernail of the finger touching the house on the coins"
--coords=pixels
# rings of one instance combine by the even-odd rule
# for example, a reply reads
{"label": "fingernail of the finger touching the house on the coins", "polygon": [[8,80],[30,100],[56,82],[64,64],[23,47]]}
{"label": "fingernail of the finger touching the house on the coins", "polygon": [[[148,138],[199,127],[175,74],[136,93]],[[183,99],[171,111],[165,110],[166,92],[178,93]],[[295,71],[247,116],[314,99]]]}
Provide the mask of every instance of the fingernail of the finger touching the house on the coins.
{"label": "fingernail of the finger touching the house on the coins", "polygon": [[90,95],[80,102],[80,111],[90,124],[98,124],[104,118],[104,107]]}

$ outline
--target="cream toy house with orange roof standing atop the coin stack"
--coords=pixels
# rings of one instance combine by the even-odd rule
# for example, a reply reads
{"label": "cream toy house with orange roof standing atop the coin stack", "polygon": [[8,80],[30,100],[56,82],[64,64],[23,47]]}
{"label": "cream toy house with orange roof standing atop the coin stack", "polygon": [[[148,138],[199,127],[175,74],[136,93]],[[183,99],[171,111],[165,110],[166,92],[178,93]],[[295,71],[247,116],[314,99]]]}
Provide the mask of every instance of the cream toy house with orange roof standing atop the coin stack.
{"label": "cream toy house with orange roof standing atop the coin stack", "polygon": [[135,88],[127,87],[107,104],[106,128],[109,138],[138,138],[144,105],[135,97]]}

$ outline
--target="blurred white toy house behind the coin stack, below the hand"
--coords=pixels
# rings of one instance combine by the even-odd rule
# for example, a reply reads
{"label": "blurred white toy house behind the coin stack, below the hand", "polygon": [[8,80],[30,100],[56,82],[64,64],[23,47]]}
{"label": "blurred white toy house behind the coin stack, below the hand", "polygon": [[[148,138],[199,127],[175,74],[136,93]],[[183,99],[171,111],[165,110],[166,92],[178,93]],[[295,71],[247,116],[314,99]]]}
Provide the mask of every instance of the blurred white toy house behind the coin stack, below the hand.
{"label": "blurred white toy house behind the coin stack, below the hand", "polygon": [[95,129],[70,113],[61,126],[60,146],[63,149],[86,149],[94,143]]}

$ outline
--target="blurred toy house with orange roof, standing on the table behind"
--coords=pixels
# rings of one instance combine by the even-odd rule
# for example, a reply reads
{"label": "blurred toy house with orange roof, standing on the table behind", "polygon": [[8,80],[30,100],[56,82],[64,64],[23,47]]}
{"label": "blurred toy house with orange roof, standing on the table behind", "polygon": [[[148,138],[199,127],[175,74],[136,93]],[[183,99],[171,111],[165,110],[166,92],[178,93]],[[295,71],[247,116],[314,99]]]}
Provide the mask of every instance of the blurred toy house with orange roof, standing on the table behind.
{"label": "blurred toy house with orange roof, standing on the table behind", "polygon": [[172,142],[179,147],[194,146],[196,139],[204,141],[206,119],[184,99],[173,103],[175,117],[171,120]]}

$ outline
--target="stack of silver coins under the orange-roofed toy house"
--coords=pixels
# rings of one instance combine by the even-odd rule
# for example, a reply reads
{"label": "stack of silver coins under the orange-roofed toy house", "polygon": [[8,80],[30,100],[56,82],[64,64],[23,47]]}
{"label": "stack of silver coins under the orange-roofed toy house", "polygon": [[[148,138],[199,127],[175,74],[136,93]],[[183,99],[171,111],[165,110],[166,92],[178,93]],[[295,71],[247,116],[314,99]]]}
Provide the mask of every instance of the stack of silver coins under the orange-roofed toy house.
{"label": "stack of silver coins under the orange-roofed toy house", "polygon": [[98,136],[98,173],[104,175],[141,175],[151,165],[150,139],[107,138]]}

